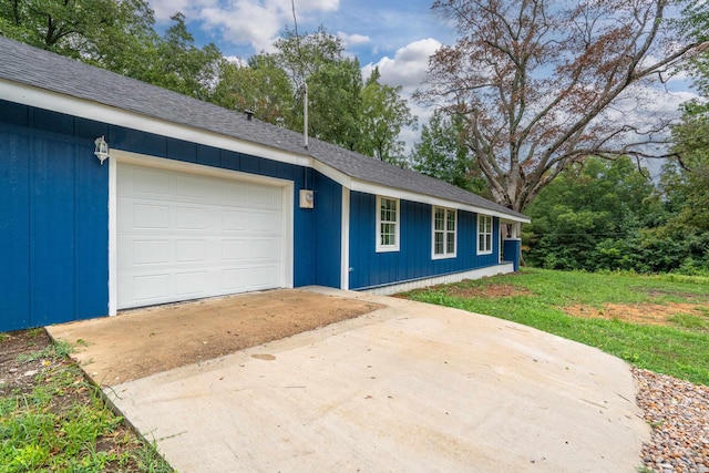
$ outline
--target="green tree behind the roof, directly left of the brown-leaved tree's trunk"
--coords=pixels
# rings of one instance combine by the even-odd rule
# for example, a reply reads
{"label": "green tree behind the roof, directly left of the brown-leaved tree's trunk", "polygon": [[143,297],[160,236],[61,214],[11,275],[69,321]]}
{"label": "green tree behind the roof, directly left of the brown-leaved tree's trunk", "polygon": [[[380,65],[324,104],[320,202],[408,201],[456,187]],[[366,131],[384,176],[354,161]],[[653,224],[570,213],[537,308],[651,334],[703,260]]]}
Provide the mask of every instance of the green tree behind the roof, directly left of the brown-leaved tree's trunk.
{"label": "green tree behind the roof, directly left of the brown-leaved tree's trunk", "polygon": [[421,138],[410,156],[412,167],[465,191],[490,197],[487,183],[464,142],[465,126],[460,115],[436,110],[421,128]]}

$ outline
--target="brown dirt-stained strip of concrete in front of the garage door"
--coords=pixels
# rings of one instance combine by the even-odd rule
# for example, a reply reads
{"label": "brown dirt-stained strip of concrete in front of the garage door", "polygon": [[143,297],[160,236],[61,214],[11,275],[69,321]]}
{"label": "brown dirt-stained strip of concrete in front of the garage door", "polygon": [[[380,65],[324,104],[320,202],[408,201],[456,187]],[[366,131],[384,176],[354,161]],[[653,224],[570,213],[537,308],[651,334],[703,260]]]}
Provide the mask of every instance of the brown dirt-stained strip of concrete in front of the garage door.
{"label": "brown dirt-stained strip of concrete in front of the garage door", "polygon": [[49,327],[100,385],[114,385],[290,337],[382,308],[287,289],[131,310]]}

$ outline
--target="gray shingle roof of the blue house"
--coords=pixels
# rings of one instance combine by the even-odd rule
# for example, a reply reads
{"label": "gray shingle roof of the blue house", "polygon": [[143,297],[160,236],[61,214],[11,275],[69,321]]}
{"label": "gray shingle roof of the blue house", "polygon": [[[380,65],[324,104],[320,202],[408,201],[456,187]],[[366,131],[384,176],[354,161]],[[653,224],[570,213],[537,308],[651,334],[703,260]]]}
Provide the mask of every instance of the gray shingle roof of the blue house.
{"label": "gray shingle roof of the blue house", "polygon": [[[124,75],[0,37],[0,78],[280,151],[309,155],[363,182],[458,202],[511,217],[527,217],[439,179]],[[8,97],[10,99],[10,97]],[[10,99],[11,100],[11,99]]]}

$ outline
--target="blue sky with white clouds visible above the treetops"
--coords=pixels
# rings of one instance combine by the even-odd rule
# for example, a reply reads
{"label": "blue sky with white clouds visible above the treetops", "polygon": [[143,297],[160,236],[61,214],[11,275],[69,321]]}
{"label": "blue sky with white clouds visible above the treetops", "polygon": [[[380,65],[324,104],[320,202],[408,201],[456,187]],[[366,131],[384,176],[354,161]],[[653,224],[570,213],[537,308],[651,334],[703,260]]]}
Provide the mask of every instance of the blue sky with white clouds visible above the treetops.
{"label": "blue sky with white clouds visible above the treetops", "polygon": [[[148,0],[158,30],[181,11],[197,45],[213,42],[227,58],[246,60],[273,51],[273,41],[286,29],[294,30],[294,6],[298,33],[315,32],[322,25],[338,35],[346,53],[356,55],[362,74],[379,66],[380,81],[402,86],[410,95],[422,84],[429,56],[442,44],[455,42],[453,25],[431,11],[433,0]],[[645,113],[678,115],[679,103],[692,96],[684,88],[648,91],[647,110],[633,110],[635,120]],[[411,112],[423,124],[432,115],[413,101]],[[629,111],[623,114],[629,114]],[[410,150],[419,130],[404,130],[400,136]]]}

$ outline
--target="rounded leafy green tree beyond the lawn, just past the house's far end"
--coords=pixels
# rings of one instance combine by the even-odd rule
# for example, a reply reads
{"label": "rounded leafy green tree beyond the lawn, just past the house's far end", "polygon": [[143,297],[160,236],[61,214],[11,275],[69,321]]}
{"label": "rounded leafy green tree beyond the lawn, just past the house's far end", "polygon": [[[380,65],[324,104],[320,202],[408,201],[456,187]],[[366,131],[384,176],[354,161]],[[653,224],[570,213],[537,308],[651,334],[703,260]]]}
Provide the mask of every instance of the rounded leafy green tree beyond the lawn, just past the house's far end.
{"label": "rounded leafy green tree beyond the lawn, just past the house's far end", "polygon": [[526,261],[555,269],[640,269],[640,230],[661,212],[655,187],[629,157],[588,158],[530,206]]}

